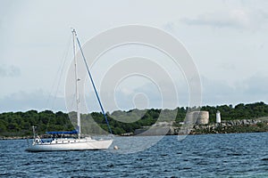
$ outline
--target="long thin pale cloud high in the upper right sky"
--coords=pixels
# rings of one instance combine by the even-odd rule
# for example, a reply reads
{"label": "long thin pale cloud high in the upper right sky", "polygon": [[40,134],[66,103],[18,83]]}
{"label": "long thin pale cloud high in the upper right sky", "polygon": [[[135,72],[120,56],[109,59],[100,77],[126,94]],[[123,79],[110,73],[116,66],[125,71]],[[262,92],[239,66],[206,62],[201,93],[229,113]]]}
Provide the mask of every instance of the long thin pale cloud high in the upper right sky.
{"label": "long thin pale cloud high in the upper right sky", "polygon": [[196,18],[183,18],[180,21],[189,26],[208,26],[214,28],[261,28],[267,20],[267,13],[256,10],[233,9],[198,15]]}

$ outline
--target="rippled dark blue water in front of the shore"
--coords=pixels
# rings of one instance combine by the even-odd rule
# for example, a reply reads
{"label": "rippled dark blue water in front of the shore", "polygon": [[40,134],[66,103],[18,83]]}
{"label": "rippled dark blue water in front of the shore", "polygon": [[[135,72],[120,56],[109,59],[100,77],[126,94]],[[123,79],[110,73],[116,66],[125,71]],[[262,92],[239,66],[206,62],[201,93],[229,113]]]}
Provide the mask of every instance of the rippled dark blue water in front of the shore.
{"label": "rippled dark blue water in front of the shore", "polygon": [[[0,141],[3,177],[268,177],[268,133],[165,136],[147,150],[121,154],[121,142],[154,137],[120,137],[121,150],[29,153],[25,140]],[[129,147],[129,148],[130,148]]]}

